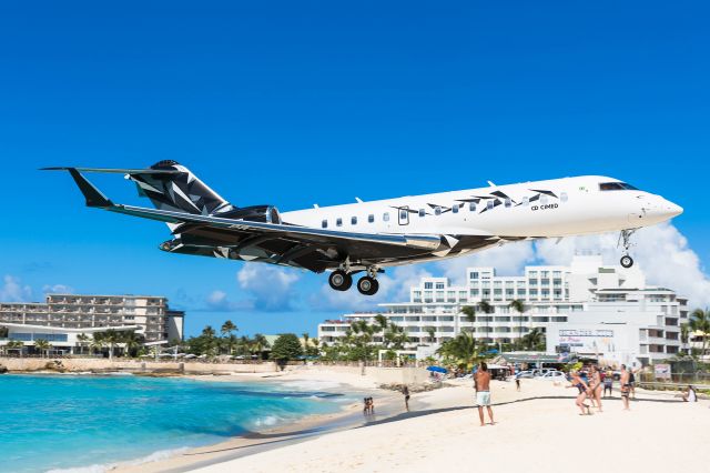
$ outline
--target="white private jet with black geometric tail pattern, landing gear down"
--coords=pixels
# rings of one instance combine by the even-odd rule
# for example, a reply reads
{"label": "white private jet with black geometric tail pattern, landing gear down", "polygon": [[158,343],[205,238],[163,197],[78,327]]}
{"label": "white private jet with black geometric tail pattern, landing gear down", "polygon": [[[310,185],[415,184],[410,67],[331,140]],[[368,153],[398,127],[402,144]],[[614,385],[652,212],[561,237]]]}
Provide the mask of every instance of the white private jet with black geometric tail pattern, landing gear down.
{"label": "white private jet with black geometric tail pattern, landing gear down", "polygon": [[[377,292],[383,268],[455,258],[520,240],[619,231],[621,265],[630,268],[629,239],[639,228],[680,214],[672,202],[599,175],[442,192],[280,213],[273,205],[239,208],[187,168],[161,161],[149,169],[67,170],[88,207],[168,223],[170,253],[260,261],[316,273],[331,271],[334,290],[353,274],[361,293]],[[155,209],[111,202],[81,172],[114,172],[135,182]]]}

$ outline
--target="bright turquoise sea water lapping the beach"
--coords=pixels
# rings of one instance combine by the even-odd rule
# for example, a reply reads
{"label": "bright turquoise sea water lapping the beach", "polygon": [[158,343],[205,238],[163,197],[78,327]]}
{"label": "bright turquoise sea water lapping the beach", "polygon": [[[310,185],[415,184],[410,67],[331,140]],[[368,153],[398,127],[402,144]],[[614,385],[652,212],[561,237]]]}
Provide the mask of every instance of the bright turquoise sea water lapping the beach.
{"label": "bright turquoise sea water lapping the beach", "polygon": [[[0,376],[0,472],[100,472],[338,411],[324,385],[131,375]],[[333,388],[333,386],[329,386]]]}

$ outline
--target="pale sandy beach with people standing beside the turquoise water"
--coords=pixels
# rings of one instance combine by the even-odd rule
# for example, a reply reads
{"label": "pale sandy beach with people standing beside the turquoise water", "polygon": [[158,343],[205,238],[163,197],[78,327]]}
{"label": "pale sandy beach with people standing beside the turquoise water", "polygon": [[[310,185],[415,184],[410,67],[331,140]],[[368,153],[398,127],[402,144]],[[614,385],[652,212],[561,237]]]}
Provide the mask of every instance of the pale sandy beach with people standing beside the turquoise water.
{"label": "pale sandy beach with people standing beside the turquoise water", "polygon": [[[676,393],[638,390],[627,412],[615,392],[604,402],[604,413],[581,416],[574,405],[575,391],[562,385],[524,380],[517,392],[513,382],[495,382],[496,424],[481,427],[469,380],[414,394],[410,412],[406,412],[400,395],[376,390],[367,375],[323,369],[277,376],[372,389],[382,413],[378,409],[377,415],[365,419],[359,405],[351,405],[329,419],[305,420],[116,471],[430,472],[447,467],[579,473],[602,466],[611,472],[704,467],[699,453],[704,451],[710,429],[710,403],[683,403]],[[214,376],[215,381],[230,379],[233,376]],[[328,430],[323,431],[323,425],[329,425]]]}

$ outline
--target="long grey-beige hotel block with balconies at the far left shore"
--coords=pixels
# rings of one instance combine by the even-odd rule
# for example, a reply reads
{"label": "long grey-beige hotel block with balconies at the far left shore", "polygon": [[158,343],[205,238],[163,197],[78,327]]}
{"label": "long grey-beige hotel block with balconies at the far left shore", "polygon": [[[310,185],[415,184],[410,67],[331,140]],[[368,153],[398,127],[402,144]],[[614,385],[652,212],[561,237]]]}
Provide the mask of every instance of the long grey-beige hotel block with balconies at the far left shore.
{"label": "long grey-beige hotel block with balconies at the far left shore", "polygon": [[48,294],[45,302],[0,302],[0,345],[14,340],[30,346],[42,339],[53,351],[74,353],[80,334],[134,331],[155,343],[182,340],[183,325],[184,312],[155,295]]}

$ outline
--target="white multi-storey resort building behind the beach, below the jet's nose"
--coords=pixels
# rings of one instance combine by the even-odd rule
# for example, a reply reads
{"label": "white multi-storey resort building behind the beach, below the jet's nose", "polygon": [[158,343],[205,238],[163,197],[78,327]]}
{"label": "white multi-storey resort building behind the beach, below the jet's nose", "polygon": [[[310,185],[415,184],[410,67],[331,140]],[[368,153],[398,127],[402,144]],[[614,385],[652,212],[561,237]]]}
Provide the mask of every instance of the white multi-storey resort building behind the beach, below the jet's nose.
{"label": "white multi-storey resort building behind the beach, below the jet's nose", "polygon": [[[513,300],[524,302],[524,313],[509,308]],[[475,322],[468,322],[462,308],[481,301],[493,312],[476,308]],[[331,344],[345,335],[351,322],[373,322],[383,314],[407,331],[410,348],[439,344],[462,329],[490,344],[513,343],[539,328],[546,333],[549,354],[648,364],[680,351],[680,325],[688,321],[684,298],[648,285],[638,266],[605,265],[597,254],[576,255],[569,266],[526,266],[519,276],[496,275],[494,268],[469,268],[465,285],[452,285],[447,278],[424,278],[410,288],[409,301],[379,305],[381,311],[347,313],[321,323],[318,339]],[[434,340],[429,339],[432,328]]]}

